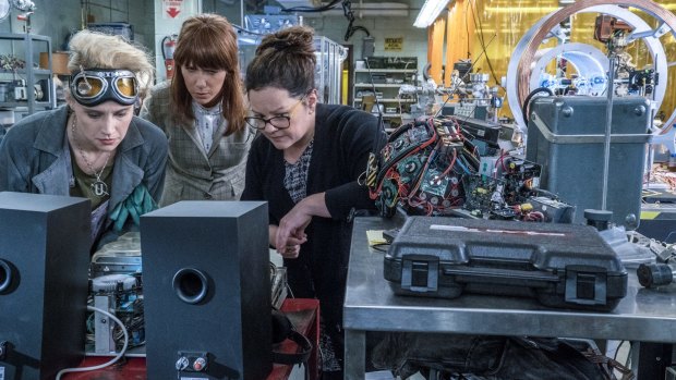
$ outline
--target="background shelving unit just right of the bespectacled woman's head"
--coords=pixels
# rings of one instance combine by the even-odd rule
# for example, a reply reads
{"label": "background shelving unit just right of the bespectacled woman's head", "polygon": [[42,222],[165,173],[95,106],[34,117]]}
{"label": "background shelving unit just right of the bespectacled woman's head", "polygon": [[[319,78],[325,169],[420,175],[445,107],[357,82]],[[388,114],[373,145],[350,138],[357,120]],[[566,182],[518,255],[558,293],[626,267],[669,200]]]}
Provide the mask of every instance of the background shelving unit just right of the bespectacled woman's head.
{"label": "background shelving unit just right of the bespectacled woman's head", "polygon": [[[399,97],[399,88],[402,85],[417,85],[415,68],[412,69],[357,69],[354,70],[354,84],[352,106],[362,108],[362,97],[373,94],[375,88],[376,98],[383,108],[383,119],[389,127],[395,128],[401,124],[402,112],[407,113],[410,105],[417,102],[414,97]],[[373,79],[373,84],[371,83]],[[372,112],[373,110],[365,110]],[[376,110],[377,112],[377,110]]]}

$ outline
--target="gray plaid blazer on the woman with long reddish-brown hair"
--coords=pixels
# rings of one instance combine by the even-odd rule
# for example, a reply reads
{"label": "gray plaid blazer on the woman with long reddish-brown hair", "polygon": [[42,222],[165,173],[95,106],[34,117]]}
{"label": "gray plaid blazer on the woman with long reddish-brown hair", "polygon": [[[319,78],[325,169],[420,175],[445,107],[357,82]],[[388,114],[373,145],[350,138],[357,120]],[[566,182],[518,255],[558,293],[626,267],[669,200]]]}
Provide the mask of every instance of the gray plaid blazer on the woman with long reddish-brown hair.
{"label": "gray plaid blazer on the woman with long reddish-brown hair", "polygon": [[160,206],[179,200],[237,200],[244,189],[246,158],[254,133],[244,128],[224,136],[228,122],[214,132],[204,149],[193,125],[180,123],[171,112],[169,82],[156,85],[144,100],[141,118],[159,126],[169,139],[169,164]]}

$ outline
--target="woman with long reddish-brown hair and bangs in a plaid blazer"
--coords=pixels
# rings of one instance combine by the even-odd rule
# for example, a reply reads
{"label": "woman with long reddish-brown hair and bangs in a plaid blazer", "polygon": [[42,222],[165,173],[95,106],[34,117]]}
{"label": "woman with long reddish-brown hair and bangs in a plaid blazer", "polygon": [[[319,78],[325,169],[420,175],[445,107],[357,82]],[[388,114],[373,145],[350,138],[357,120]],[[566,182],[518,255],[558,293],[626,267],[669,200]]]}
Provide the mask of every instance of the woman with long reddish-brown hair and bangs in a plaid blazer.
{"label": "woman with long reddish-brown hair and bangs in a plaid blazer", "polygon": [[239,199],[244,189],[246,127],[237,36],[216,14],[183,22],[171,82],[157,85],[141,117],[169,138],[161,205],[193,199]]}

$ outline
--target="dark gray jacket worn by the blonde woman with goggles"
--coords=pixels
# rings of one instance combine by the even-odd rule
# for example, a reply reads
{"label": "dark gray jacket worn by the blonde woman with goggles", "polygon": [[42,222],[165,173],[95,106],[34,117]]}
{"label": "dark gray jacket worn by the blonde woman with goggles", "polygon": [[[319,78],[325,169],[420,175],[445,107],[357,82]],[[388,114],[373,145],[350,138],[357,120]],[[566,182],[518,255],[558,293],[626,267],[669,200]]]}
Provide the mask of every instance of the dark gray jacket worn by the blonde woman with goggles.
{"label": "dark gray jacket worn by the blonde woman with goggles", "polygon": [[[65,138],[68,107],[35,113],[12,126],[0,144],[0,191],[70,194],[74,183]],[[167,162],[167,137],[134,117],[114,158],[108,213],[143,183],[159,199]],[[111,226],[107,220],[104,231]]]}

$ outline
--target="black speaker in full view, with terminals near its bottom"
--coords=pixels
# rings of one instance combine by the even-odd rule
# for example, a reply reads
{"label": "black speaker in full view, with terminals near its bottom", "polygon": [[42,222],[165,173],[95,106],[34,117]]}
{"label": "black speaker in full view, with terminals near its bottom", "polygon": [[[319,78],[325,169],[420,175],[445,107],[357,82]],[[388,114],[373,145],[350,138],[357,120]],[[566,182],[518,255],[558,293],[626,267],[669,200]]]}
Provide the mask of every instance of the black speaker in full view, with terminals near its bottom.
{"label": "black speaker in full view, with terminals near its bottom", "polygon": [[148,379],[271,370],[267,204],[180,201],[141,218]]}

